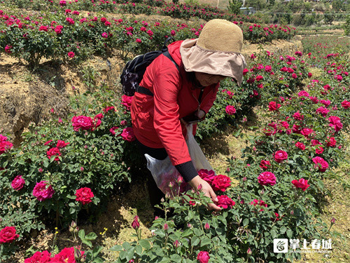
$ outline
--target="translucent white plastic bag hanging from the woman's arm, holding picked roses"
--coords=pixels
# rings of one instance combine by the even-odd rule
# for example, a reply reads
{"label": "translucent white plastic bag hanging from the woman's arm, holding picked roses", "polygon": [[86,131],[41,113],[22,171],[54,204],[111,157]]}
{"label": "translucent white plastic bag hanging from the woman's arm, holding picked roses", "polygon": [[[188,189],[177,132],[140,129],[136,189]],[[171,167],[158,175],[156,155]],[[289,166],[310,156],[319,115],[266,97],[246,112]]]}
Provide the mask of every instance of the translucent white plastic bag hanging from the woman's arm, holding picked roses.
{"label": "translucent white plastic bag hanging from the woman's arm, holding picked roses", "polygon": [[[193,136],[193,124],[188,124],[186,128],[188,135],[186,143],[196,170],[213,170],[210,163],[205,158],[202,149],[200,149],[200,145],[197,144]],[[175,166],[172,165],[169,156],[164,160],[155,159],[148,154],[145,154],[145,157],[147,159],[148,170],[151,171],[158,188],[162,190],[164,194],[169,193],[171,196],[176,196],[190,189],[190,185],[183,180],[183,182],[179,184],[179,177],[181,175],[179,171],[176,170]]]}

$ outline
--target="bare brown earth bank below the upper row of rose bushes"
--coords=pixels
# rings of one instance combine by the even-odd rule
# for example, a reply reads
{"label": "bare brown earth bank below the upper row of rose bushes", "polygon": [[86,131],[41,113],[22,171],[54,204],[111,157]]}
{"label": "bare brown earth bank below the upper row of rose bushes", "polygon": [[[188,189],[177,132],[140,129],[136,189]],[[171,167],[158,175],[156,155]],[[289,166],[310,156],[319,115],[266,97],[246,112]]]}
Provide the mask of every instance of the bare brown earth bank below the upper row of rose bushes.
{"label": "bare brown earth bank below the upper row of rose bushes", "polygon": [[[260,45],[245,43],[242,53],[250,62],[250,55],[259,52]],[[274,53],[293,54],[302,50],[300,40],[273,41],[265,50]],[[120,88],[119,76],[125,62],[116,51],[110,58],[93,57],[80,64],[59,64],[44,61],[31,71],[18,60],[6,54],[0,56],[0,133],[9,135],[15,146],[21,141],[23,130],[29,123],[39,123],[50,118],[50,109],[64,118],[69,114],[69,95],[72,88],[83,93],[89,87],[84,80],[95,78],[97,86],[102,82],[111,88]]]}

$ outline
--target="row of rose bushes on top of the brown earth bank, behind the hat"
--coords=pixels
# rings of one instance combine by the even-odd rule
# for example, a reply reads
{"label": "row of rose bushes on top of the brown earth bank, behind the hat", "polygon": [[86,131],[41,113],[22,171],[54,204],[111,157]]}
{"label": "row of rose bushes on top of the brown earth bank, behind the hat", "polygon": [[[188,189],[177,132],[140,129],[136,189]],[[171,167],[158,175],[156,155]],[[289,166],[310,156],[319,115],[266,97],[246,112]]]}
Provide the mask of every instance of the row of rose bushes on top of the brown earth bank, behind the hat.
{"label": "row of rose bushes on top of the brown earth bank, behind the hat", "polygon": [[[287,26],[233,22],[251,43],[290,39],[295,34],[295,28]],[[202,27],[198,22],[174,25],[165,21],[82,15],[70,9],[40,15],[0,10],[0,52],[30,67],[38,67],[43,58],[80,62],[90,55],[111,55],[113,50],[127,59],[158,50],[167,36],[176,40],[196,38]]]}

